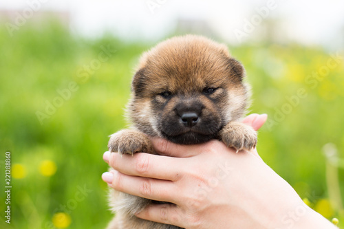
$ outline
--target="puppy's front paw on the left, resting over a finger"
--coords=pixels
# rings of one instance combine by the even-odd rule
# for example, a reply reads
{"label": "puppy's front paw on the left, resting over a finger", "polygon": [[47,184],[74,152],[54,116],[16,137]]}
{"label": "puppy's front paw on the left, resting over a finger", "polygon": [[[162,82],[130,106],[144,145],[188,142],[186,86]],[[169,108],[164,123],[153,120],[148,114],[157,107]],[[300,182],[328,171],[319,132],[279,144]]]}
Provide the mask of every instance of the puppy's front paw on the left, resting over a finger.
{"label": "puppy's front paw on the left, resting over a finger", "polygon": [[124,129],[111,135],[109,144],[107,144],[110,152],[120,154],[133,153],[154,153],[151,140],[140,131]]}

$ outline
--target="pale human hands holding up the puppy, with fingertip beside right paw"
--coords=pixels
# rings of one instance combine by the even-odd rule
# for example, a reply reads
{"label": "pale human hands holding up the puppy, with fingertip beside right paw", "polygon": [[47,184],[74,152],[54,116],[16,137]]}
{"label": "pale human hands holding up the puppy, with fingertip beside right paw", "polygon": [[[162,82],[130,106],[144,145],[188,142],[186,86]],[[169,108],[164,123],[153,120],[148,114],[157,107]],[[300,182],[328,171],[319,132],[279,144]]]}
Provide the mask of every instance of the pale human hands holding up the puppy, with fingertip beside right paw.
{"label": "pale human hands holding up the puppy, with fingertip beside right paw", "polygon": [[[257,130],[265,120],[255,114],[244,122]],[[172,203],[152,204],[137,217],[188,229],[310,228],[302,219],[319,221],[257,151],[235,153],[217,140],[182,146],[155,138],[152,143],[160,155],[104,154],[116,169],[103,175],[111,188]]]}

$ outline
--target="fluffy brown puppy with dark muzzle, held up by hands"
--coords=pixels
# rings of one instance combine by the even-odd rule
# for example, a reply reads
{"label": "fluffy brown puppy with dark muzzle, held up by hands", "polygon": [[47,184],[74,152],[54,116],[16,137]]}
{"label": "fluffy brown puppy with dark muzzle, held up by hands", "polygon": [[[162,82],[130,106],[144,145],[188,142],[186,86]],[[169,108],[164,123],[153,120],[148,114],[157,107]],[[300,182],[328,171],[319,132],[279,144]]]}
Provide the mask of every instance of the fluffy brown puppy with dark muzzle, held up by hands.
{"label": "fluffy brown puppy with dark muzzle, held up by hands", "polygon": [[[149,136],[177,144],[219,139],[237,151],[252,149],[256,132],[238,122],[248,104],[244,76],[225,45],[193,35],[163,41],[142,55],[127,108],[132,128],[111,135],[109,151],[155,153]],[[178,228],[135,217],[149,199],[110,195],[116,217],[108,229]]]}

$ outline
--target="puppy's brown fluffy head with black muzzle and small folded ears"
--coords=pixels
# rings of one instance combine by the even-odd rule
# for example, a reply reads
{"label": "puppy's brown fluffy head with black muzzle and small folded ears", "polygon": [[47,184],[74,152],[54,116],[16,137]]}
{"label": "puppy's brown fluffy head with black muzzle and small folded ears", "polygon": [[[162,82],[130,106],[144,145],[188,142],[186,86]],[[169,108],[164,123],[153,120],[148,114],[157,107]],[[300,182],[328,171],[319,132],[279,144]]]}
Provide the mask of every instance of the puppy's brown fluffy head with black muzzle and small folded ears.
{"label": "puppy's brown fluffy head with black muzzle and small folded ears", "polygon": [[246,109],[244,68],[200,36],[164,41],[142,56],[129,116],[136,128],[178,144],[217,138]]}

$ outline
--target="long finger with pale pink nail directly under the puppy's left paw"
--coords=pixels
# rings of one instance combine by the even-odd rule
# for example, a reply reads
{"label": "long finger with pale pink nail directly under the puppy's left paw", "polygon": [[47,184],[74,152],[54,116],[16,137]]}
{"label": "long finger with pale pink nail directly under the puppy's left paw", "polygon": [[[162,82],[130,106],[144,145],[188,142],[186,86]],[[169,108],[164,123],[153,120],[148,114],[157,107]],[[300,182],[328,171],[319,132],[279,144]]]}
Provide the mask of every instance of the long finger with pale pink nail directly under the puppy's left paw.
{"label": "long finger with pale pink nail directly under the puppy's left paw", "polygon": [[135,153],[131,156],[107,151],[103,158],[109,163],[109,166],[120,171],[120,173],[171,181],[180,179],[180,174],[183,171],[181,165],[185,164],[181,163],[180,158],[177,157],[165,157],[149,153]]}

